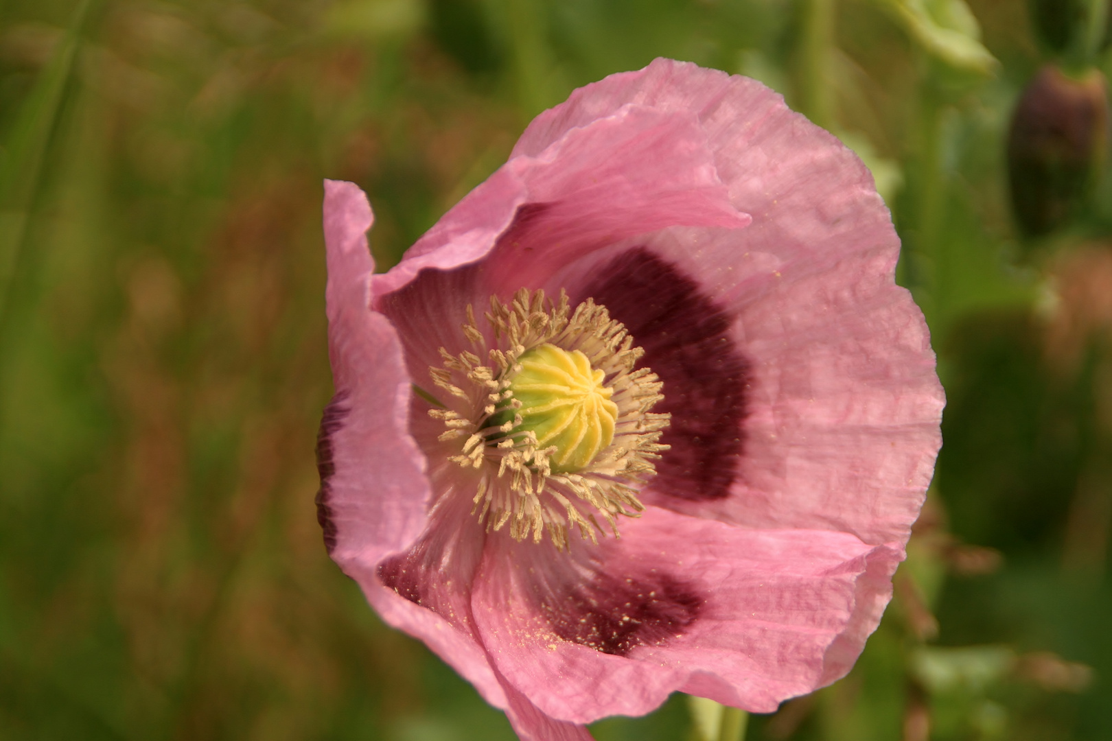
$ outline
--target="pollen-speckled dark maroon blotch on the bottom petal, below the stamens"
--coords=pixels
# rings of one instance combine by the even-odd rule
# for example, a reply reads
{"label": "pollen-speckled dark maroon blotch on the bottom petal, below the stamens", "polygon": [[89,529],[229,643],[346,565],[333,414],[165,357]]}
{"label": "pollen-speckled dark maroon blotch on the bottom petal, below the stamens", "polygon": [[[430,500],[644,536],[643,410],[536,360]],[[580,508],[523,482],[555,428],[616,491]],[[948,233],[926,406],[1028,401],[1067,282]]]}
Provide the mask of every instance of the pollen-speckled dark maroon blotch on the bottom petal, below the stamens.
{"label": "pollen-speckled dark maroon blotch on the bottom petal, below the stamens", "polygon": [[623,579],[599,573],[562,599],[542,600],[557,635],[618,657],[676,638],[702,607],[702,597],[666,574]]}

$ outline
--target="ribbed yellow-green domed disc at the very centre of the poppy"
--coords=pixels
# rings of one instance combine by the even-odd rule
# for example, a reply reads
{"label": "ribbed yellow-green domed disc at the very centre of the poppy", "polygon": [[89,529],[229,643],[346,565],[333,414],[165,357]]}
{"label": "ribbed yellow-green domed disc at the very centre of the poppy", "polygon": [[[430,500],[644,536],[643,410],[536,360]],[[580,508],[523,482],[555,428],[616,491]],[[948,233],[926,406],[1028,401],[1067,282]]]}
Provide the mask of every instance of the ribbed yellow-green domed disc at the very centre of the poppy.
{"label": "ribbed yellow-green domed disc at the very centre of the poppy", "polygon": [[532,430],[540,448],[555,445],[552,469],[569,473],[585,468],[614,440],[618,405],[605,373],[587,356],[542,344],[518,358],[522,370],[510,380],[522,402],[518,430]]}

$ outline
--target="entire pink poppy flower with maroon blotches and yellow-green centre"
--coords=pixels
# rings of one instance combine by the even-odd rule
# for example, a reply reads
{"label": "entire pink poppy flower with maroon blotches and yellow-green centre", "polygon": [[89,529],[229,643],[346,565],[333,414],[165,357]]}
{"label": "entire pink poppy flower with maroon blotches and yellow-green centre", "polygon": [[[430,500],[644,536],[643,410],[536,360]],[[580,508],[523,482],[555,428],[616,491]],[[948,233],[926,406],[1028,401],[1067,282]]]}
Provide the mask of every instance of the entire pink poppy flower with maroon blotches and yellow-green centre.
{"label": "entire pink poppy flower with maroon blotches and yellow-green centre", "polygon": [[770,712],[850,670],[943,405],[850,150],[658,59],[537,117],[385,274],[371,222],[326,183],[317,502],[386,622],[523,739],[676,690]]}

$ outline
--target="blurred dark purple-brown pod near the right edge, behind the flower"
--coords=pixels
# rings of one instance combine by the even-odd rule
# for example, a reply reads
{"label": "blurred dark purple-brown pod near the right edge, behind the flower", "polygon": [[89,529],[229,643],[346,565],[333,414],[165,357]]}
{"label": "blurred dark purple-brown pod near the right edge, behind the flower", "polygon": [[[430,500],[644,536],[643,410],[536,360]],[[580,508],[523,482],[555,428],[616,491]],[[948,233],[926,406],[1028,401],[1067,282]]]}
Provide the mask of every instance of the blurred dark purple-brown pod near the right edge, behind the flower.
{"label": "blurred dark purple-brown pod near the right edge, behind the flower", "polygon": [[1100,71],[1073,78],[1048,64],[1027,84],[1007,138],[1012,206],[1024,232],[1045,234],[1074,212],[1104,159],[1106,128]]}

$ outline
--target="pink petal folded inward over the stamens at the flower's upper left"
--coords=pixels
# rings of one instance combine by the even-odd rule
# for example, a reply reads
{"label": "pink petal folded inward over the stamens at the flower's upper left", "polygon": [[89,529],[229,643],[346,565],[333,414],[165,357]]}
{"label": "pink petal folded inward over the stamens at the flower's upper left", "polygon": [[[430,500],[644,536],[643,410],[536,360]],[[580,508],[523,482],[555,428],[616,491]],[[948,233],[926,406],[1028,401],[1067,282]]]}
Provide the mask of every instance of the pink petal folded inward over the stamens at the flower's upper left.
{"label": "pink petal folded inward over the stamens at the flower's upper left", "polygon": [[464,347],[468,303],[483,310],[492,294],[535,287],[577,254],[669,224],[748,222],[729,204],[694,117],[626,107],[507,162],[401,263],[373,278],[375,308],[398,328],[410,371],[424,379],[439,348]]}

